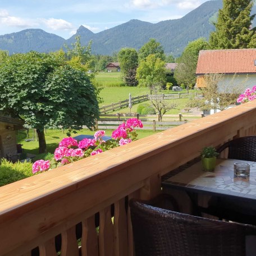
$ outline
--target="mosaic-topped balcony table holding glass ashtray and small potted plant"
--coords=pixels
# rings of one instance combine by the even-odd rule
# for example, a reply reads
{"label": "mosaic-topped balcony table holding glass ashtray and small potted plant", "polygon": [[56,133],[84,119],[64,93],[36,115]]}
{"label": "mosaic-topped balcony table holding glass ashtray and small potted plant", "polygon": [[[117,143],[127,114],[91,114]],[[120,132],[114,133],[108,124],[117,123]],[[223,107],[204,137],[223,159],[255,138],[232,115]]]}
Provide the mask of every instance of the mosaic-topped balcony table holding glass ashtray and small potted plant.
{"label": "mosaic-topped balcony table holding glass ashtray and small potted plant", "polygon": [[[234,177],[234,162],[250,163],[250,176]],[[256,162],[217,159],[214,172],[205,172],[199,161],[187,168],[180,167],[168,173],[168,179],[162,182],[162,188],[164,193],[172,194],[174,191],[181,201],[185,200],[182,190],[189,195],[189,199],[191,199],[191,193],[200,196],[221,196],[252,203],[256,207]],[[181,202],[181,207],[186,203]],[[188,210],[184,212],[189,213]]]}

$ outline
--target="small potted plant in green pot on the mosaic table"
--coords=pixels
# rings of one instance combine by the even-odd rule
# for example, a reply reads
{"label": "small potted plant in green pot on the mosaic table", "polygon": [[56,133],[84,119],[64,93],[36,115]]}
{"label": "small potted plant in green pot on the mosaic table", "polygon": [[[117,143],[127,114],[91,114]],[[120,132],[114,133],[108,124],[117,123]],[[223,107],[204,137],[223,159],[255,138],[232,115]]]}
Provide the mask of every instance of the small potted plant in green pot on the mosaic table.
{"label": "small potted plant in green pot on the mosaic table", "polygon": [[204,171],[214,171],[216,165],[216,157],[219,153],[216,151],[214,147],[205,147],[200,152],[200,156],[202,158],[203,170]]}

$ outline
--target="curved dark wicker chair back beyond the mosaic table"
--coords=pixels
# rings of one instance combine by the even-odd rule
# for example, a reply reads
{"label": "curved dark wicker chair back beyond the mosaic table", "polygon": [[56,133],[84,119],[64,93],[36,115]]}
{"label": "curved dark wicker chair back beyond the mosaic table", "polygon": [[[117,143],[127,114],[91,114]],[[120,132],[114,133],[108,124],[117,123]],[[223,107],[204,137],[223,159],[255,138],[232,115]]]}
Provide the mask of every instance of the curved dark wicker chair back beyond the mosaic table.
{"label": "curved dark wicker chair back beyond the mosaic table", "polygon": [[221,153],[226,148],[228,148],[228,158],[256,161],[256,136],[246,136],[228,141],[217,151]]}

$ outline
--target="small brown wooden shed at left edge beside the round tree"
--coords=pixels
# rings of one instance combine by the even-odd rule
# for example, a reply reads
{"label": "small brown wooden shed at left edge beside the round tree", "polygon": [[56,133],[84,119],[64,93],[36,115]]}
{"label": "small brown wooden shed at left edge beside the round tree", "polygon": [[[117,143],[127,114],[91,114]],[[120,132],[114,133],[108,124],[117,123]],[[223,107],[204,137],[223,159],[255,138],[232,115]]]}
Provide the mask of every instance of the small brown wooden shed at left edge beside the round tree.
{"label": "small brown wooden shed at left edge beside the round tree", "polygon": [[0,158],[17,158],[15,131],[21,129],[23,124],[19,119],[0,116]]}

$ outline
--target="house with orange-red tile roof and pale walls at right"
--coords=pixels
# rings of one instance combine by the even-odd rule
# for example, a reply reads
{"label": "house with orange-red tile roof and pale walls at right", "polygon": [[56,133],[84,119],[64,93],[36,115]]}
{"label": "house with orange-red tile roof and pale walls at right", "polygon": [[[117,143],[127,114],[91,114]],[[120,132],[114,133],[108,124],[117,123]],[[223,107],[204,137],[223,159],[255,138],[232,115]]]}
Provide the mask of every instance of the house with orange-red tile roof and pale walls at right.
{"label": "house with orange-red tile roof and pale walls at right", "polygon": [[[203,50],[196,66],[196,87],[205,87],[204,75],[223,74],[221,83],[256,85],[256,49]],[[235,75],[235,79],[234,79]]]}

